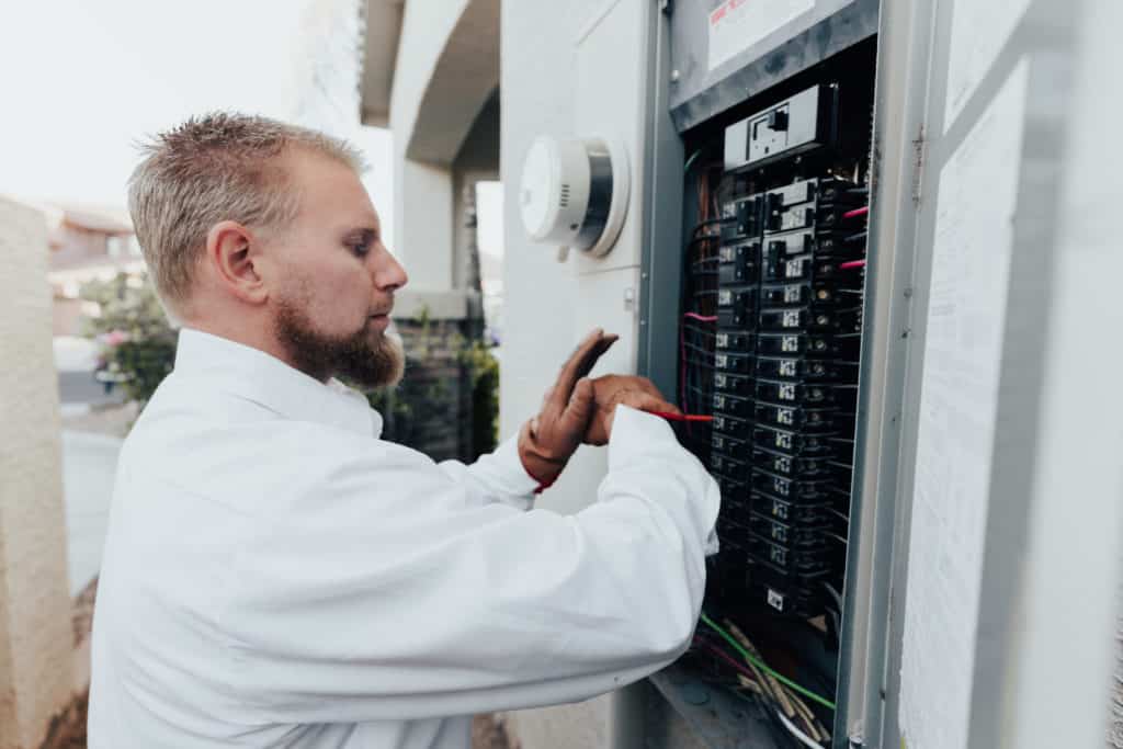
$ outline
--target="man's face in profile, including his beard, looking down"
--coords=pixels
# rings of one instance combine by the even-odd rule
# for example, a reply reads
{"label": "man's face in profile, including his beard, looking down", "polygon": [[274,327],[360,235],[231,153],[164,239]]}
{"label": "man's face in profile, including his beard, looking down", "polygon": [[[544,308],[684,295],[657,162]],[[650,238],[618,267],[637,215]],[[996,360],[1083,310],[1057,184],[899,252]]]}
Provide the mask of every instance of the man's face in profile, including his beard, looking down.
{"label": "man's face in profile, including his beard, looking down", "polygon": [[404,356],[385,331],[407,275],[382,244],[371,198],[335,159],[304,150],[286,158],[300,208],[267,239],[276,258],[270,294],[276,337],[298,368],[318,380],[394,384]]}

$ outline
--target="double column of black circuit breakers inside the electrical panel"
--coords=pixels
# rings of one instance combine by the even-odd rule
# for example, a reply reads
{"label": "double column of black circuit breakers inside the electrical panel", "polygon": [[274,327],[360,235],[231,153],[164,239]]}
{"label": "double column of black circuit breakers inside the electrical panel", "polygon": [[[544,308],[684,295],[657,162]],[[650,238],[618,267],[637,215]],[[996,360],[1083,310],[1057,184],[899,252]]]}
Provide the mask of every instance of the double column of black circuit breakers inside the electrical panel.
{"label": "double column of black circuit breakers inside the electrical panel", "polygon": [[[861,331],[865,191],[813,179],[723,207],[710,467],[722,555],[754,601],[841,590]],[[830,587],[829,587],[830,586]]]}

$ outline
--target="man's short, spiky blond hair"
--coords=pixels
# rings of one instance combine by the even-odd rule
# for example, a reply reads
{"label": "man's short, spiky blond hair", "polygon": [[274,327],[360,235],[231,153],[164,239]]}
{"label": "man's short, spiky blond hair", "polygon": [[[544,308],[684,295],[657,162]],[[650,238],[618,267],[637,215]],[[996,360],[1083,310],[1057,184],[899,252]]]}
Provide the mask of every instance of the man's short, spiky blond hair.
{"label": "man's short, spiky blond hair", "polygon": [[129,179],[129,213],[156,291],[168,311],[188,299],[207,232],[231,220],[262,229],[293,220],[298,192],[280,158],[308,148],[362,173],[346,140],[265,117],[213,112],[141,144]]}

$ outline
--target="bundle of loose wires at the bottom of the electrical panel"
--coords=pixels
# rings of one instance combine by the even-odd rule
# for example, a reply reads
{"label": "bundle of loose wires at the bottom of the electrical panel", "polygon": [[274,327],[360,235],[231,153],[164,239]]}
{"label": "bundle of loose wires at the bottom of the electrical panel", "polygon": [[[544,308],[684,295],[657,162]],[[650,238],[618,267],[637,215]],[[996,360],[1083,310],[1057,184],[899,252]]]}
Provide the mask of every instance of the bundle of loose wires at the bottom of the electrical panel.
{"label": "bundle of loose wires at the bottom of the electrical panel", "polygon": [[[725,627],[721,627],[705,612],[702,613],[702,623],[706,629],[695,634],[692,647],[736,672],[733,694],[760,704],[765,713],[802,746],[822,749],[830,741],[830,732],[807,701],[831,711],[834,710],[833,702],[768,666],[760,651],[736,624],[727,620]],[[727,648],[732,648],[736,655]]]}

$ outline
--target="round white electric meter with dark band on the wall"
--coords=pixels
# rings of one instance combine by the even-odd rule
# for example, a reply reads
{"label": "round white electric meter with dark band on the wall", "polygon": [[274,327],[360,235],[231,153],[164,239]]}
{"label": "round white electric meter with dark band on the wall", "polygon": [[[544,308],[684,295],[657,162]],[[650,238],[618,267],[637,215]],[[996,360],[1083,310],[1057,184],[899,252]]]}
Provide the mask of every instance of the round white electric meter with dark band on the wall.
{"label": "round white electric meter with dark band on the wall", "polygon": [[539,136],[522,165],[522,223],[536,241],[604,255],[620,236],[629,186],[623,144]]}

